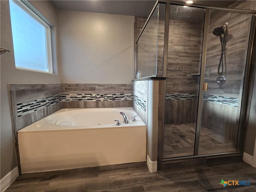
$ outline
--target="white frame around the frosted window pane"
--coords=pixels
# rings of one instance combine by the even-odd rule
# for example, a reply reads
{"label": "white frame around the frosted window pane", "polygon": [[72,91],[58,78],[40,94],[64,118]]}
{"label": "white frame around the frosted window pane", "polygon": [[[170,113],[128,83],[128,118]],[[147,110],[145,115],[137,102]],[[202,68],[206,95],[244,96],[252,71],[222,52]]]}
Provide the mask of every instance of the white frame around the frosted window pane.
{"label": "white frame around the frosted window pane", "polygon": [[[30,69],[30,68],[24,68],[24,67],[18,67],[15,64],[16,69],[22,69],[22,70],[30,70],[30,71],[36,71],[36,72],[44,72],[44,73],[50,73],[53,74],[52,70],[52,41],[51,41],[51,28],[42,18],[40,18],[35,12],[33,12],[28,6],[26,6],[23,2],[20,0],[11,0],[15,4],[17,4],[20,8],[22,8],[26,13],[28,13],[32,18],[34,18],[36,21],[38,21],[42,26],[45,27],[46,32],[46,56],[47,56],[47,64],[48,64],[48,71],[42,71],[42,70],[36,70],[36,69]],[[28,50],[29,51],[29,50]],[[15,55],[15,53],[14,53]]]}

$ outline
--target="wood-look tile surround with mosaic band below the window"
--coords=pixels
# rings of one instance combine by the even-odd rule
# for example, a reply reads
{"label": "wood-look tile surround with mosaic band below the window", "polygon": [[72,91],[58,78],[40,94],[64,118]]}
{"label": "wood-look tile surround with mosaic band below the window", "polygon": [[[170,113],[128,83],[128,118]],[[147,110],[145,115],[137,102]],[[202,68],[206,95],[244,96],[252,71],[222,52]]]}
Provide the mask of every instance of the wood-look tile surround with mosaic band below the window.
{"label": "wood-look tile surround with mosaic band below the window", "polygon": [[[61,109],[60,84],[9,84],[8,86],[15,149],[18,169],[21,173],[17,132]],[[49,100],[49,98],[54,98],[54,100]],[[20,110],[22,113],[19,112],[18,115]]]}

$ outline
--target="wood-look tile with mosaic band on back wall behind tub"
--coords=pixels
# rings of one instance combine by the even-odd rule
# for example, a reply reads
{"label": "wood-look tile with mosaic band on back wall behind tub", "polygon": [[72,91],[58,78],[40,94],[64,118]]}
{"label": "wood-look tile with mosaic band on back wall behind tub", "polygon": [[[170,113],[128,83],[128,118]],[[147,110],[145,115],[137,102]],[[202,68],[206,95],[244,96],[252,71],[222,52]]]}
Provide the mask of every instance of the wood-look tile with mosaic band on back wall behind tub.
{"label": "wood-look tile with mosaic band on back wall behind tub", "polygon": [[61,84],[61,94],[62,108],[132,107],[132,84]]}

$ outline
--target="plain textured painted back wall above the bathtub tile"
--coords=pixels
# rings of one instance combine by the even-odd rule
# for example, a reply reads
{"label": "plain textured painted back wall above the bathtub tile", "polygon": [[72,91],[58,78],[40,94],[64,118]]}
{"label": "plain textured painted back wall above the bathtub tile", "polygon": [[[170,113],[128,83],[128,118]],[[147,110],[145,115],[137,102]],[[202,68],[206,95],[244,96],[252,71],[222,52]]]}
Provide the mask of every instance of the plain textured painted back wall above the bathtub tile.
{"label": "plain textured painted back wall above the bathtub tile", "polygon": [[57,10],[62,83],[132,83],[134,17]]}

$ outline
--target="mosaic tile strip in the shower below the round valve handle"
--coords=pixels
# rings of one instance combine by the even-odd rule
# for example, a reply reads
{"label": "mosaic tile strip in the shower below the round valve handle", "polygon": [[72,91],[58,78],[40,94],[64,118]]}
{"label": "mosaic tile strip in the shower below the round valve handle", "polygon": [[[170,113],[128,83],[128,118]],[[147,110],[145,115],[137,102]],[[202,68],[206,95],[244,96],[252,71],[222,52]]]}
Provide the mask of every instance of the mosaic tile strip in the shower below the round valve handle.
{"label": "mosaic tile strip in the shower below the round valve handle", "polygon": [[215,102],[219,104],[230,105],[234,107],[238,107],[239,99],[232,97],[224,97],[218,95],[208,95],[204,94],[204,101]]}

